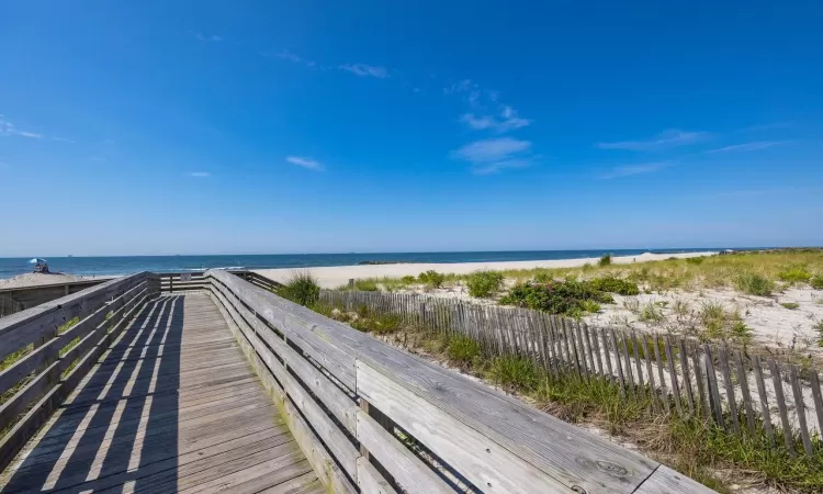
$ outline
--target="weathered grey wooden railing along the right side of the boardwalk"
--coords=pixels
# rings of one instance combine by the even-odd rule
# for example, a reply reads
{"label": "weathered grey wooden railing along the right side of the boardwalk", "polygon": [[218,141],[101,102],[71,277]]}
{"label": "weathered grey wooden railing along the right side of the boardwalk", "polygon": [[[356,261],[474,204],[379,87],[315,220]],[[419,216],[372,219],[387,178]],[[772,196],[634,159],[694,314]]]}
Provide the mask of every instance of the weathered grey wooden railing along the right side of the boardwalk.
{"label": "weathered grey wooden railing along the right side of the boardwalk", "polygon": [[331,492],[711,492],[237,276],[205,277]]}

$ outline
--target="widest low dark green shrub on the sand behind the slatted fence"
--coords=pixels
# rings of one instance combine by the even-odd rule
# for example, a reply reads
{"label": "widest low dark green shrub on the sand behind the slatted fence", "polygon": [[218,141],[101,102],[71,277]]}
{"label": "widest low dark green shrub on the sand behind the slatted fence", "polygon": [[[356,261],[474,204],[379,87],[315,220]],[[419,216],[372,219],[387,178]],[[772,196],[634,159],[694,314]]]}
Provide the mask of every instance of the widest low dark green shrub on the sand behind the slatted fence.
{"label": "widest low dark green shrub on the sand behind the slatted fence", "polygon": [[610,304],[615,300],[608,293],[595,290],[582,281],[554,281],[545,284],[516,284],[503,299],[503,305],[516,305],[552,314],[579,315],[583,301]]}

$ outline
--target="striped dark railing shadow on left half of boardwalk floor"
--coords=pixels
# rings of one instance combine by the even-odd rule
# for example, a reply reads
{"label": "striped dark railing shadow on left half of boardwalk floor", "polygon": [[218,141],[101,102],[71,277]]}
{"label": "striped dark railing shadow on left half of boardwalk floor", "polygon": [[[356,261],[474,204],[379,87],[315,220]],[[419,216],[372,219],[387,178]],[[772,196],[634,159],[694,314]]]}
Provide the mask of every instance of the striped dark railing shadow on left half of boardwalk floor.
{"label": "striped dark railing shadow on left half of boardwalk floor", "polygon": [[184,304],[183,296],[164,296],[143,307],[59,408],[3,493],[124,483],[142,491],[140,476],[129,479],[129,472],[158,461],[162,470],[177,469]]}

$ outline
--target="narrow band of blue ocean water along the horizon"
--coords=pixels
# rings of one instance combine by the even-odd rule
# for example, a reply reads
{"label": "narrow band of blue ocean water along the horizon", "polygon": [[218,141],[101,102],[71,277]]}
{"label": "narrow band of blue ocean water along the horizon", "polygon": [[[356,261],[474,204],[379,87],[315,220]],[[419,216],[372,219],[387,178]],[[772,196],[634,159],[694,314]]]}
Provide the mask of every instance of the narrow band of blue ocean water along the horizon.
{"label": "narrow band of blue ocean water along the horizon", "polygon": [[[723,247],[724,248],[724,247]],[[531,250],[508,252],[383,252],[383,254],[278,254],[228,256],[122,256],[122,257],[50,257],[54,272],[79,276],[127,274],[139,271],[181,272],[210,268],[264,269],[349,266],[362,261],[384,262],[494,262],[551,260],[615,256],[638,256],[643,252],[675,254],[722,248],[683,249],[600,249],[600,250]],[[0,258],[0,279],[32,271],[31,258]]]}

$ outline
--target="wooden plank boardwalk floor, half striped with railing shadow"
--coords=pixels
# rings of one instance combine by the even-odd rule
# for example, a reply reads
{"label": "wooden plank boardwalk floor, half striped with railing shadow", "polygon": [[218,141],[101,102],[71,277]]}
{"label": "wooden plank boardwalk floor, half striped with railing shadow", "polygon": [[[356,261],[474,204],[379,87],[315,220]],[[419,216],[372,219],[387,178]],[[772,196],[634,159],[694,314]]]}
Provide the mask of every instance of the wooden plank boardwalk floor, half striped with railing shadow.
{"label": "wooden plank boardwalk floor, half striped with railing shadow", "polygon": [[148,303],[0,492],[324,492],[204,293]]}

